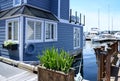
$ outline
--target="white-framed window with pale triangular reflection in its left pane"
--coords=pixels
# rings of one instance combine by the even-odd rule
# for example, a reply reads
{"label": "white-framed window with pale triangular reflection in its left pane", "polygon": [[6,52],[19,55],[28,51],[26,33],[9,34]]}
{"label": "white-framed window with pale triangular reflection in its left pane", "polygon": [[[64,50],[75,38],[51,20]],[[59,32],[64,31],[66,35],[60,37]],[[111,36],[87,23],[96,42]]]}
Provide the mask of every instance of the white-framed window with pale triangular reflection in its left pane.
{"label": "white-framed window with pale triangular reflection in its left pane", "polygon": [[43,41],[43,21],[37,19],[26,19],[26,41]]}

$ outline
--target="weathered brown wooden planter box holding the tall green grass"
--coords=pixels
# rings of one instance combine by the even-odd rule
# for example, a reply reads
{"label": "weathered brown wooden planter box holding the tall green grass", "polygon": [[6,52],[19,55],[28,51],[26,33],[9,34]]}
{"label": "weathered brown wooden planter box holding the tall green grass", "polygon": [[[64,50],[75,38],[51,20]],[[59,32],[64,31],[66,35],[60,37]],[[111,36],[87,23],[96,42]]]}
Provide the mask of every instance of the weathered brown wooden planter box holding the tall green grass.
{"label": "weathered brown wooden planter box holding the tall green grass", "polygon": [[38,67],[38,81],[74,81],[74,70],[68,74]]}

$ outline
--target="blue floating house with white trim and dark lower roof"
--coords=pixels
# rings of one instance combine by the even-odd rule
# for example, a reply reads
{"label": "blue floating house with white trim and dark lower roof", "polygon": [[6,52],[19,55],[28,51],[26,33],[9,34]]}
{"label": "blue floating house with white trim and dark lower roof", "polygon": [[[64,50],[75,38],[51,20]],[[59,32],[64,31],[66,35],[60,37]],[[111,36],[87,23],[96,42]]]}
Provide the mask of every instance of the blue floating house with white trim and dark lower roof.
{"label": "blue floating house with white trim and dark lower roof", "polygon": [[[69,0],[0,0],[0,55],[10,53],[20,61],[36,61],[49,47],[80,54],[83,49],[83,24],[72,16]],[[16,50],[3,48],[11,40]]]}

